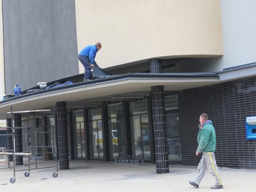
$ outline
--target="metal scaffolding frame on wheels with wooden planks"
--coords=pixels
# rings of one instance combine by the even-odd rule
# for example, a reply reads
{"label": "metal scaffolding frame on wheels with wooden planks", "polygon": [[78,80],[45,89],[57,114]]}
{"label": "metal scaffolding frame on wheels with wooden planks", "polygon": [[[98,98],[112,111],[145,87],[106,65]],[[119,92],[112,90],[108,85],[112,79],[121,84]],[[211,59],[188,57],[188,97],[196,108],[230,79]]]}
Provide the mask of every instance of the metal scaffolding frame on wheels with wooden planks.
{"label": "metal scaffolding frame on wheels with wooden planks", "polygon": [[[26,169],[26,172],[24,173],[24,176],[28,177],[30,175],[30,170],[35,170],[35,169],[44,169],[44,168],[53,168],[53,167],[56,167],[56,171],[52,174],[52,176],[54,178],[56,178],[58,176],[58,149],[57,149],[57,145],[56,145],[56,140],[57,140],[57,132],[56,132],[56,112],[55,112],[55,106],[53,106],[54,110],[51,111],[51,110],[26,110],[26,111],[17,111],[17,112],[13,112],[12,111],[12,106],[10,107],[10,112],[7,112],[7,113],[1,113],[1,114],[7,114],[7,118],[8,118],[8,115],[10,114],[11,116],[11,127],[6,127],[6,128],[11,128],[11,131],[12,133],[11,134],[0,134],[0,136],[11,136],[12,137],[12,150],[7,150],[7,149],[0,149],[0,155],[5,155],[6,158],[8,158],[8,155],[12,155],[12,162],[13,162],[13,166],[10,167],[10,162],[8,162],[8,159],[7,159],[7,167],[6,168],[13,168],[13,177],[10,178],[10,182],[11,183],[14,183],[16,181],[16,176],[15,176],[15,172],[17,171],[24,171],[24,170],[15,170],[16,167],[23,167],[23,166],[28,166],[28,169]],[[35,125],[35,113],[36,112],[40,112],[40,114],[43,114],[44,113],[51,113],[53,116],[54,116],[54,125],[52,126],[36,126]],[[34,120],[34,126],[28,126],[28,122],[29,122],[29,114],[33,114],[33,120]],[[13,115],[14,114],[27,114],[27,126],[26,127],[15,127],[14,126],[14,122],[13,122]],[[46,127],[52,127],[52,130],[51,131],[42,131],[42,128],[46,128]],[[27,129],[27,136],[28,136],[28,152],[16,152],[15,151],[15,134],[14,134],[14,130],[17,130],[17,129]],[[39,132],[30,132],[30,130],[40,130]],[[31,146],[31,134],[52,134],[52,136],[55,136],[55,140],[54,140],[54,144],[52,146]],[[37,136],[36,136],[37,137]],[[40,153],[32,153],[31,149],[32,148],[52,148],[52,152],[42,152],[42,150],[40,150],[41,152]],[[47,167],[42,167],[42,168],[38,168],[37,167],[37,155],[38,154],[56,154],[56,166],[47,166]],[[36,168],[30,168],[30,158],[32,158],[32,156],[35,155],[35,160],[36,160]],[[16,166],[15,165],[15,156],[28,156],[28,165],[19,165],[19,166]],[[22,157],[23,158],[23,157]],[[1,169],[4,169],[4,168],[1,168]]]}

